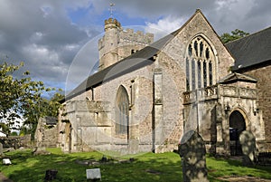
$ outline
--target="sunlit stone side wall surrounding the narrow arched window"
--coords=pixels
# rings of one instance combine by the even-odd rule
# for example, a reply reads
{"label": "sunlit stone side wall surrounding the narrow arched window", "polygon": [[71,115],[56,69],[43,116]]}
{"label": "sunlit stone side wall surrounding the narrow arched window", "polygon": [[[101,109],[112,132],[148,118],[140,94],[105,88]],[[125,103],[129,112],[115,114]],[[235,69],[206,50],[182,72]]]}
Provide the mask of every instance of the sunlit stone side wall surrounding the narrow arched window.
{"label": "sunlit stone side wall surrounding the narrow arched window", "polygon": [[[112,149],[124,151],[128,149],[128,138],[137,143],[133,150],[147,150],[152,148],[152,110],[153,110],[153,66],[145,66],[142,69],[130,72],[108,81],[95,88],[96,101],[108,101],[112,128],[111,138]],[[117,135],[116,123],[116,96],[120,86],[126,89],[129,98],[129,136]],[[99,93],[97,93],[99,91]],[[139,145],[139,146],[138,146]],[[135,146],[135,145],[134,145]],[[126,148],[126,149],[125,149]]]}

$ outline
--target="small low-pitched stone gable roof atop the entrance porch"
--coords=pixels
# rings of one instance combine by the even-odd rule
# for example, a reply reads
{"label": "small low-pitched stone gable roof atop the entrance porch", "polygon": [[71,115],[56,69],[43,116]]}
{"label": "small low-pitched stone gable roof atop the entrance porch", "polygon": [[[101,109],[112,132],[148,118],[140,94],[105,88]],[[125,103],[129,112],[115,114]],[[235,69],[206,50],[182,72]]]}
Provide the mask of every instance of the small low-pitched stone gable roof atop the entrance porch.
{"label": "small low-pitched stone gable roof atop the entrance porch", "polygon": [[237,81],[246,81],[246,82],[254,82],[256,83],[257,80],[245,75],[245,74],[240,74],[238,72],[232,72],[229,75],[227,75],[226,77],[224,77],[221,81],[219,81],[221,84],[228,84],[228,83],[233,83],[233,82],[237,82]]}

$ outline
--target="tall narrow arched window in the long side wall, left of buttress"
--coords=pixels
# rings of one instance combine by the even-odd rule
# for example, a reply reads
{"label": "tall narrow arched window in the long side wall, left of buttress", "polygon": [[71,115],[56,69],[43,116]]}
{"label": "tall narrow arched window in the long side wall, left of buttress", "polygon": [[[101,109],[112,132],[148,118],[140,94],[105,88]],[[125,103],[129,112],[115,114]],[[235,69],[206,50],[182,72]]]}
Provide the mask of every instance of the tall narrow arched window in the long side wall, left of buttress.
{"label": "tall narrow arched window in the long side wall, left of buttress", "polygon": [[129,99],[126,89],[120,86],[116,97],[116,134],[128,134]]}

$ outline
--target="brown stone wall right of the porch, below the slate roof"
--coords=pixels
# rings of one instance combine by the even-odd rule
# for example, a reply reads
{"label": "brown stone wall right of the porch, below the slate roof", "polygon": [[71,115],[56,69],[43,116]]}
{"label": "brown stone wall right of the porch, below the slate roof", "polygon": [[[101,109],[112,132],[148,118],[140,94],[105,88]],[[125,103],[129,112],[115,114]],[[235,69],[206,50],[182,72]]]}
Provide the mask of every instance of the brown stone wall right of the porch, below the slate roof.
{"label": "brown stone wall right of the porch, below the slate roof", "polygon": [[263,115],[266,133],[266,150],[271,149],[271,65],[244,73],[257,79],[258,112]]}

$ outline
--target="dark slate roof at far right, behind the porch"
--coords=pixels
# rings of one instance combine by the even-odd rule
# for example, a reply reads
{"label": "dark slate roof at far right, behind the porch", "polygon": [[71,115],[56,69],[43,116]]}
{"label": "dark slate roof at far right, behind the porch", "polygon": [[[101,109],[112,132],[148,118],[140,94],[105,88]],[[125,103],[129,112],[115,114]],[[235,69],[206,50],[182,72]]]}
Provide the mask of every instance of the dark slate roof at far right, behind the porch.
{"label": "dark slate roof at far right, behind the porch", "polygon": [[233,70],[271,63],[271,27],[226,44],[235,59]]}

